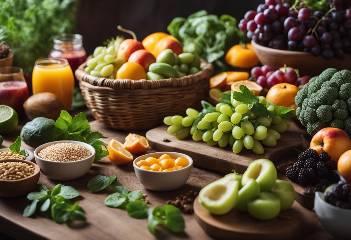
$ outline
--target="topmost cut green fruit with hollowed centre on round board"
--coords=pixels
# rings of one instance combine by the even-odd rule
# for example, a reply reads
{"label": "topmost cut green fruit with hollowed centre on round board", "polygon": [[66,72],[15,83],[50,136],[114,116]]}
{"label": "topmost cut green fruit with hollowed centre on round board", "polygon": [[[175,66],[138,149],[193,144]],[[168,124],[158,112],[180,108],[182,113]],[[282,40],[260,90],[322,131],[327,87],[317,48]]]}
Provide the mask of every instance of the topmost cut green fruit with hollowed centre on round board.
{"label": "topmost cut green fruit with hollowed centre on round board", "polygon": [[269,191],[277,179],[277,169],[268,159],[257,159],[250,163],[243,174],[241,184],[245,186],[250,179],[255,179],[262,192]]}

